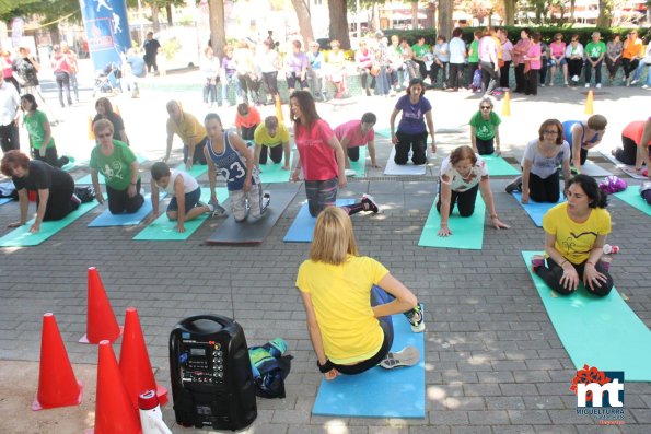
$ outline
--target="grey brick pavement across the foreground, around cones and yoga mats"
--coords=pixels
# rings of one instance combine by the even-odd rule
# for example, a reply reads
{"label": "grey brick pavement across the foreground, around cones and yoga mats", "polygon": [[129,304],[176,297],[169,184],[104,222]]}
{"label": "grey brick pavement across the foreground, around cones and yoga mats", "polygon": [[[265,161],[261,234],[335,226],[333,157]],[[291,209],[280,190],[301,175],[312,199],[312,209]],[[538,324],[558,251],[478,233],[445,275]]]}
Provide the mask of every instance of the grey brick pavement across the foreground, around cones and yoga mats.
{"label": "grey brick pavement across the foreground, around cones and yoga mats", "polygon": [[[440,94],[430,94],[434,95]],[[567,103],[562,107],[548,103],[559,112],[567,109]],[[441,134],[439,141],[446,150],[464,142],[464,137]],[[523,143],[512,143],[513,154],[521,152]],[[386,161],[386,140],[377,148],[379,161]],[[433,160],[435,168],[441,154],[446,152]],[[613,168],[608,164],[604,166]],[[288,341],[294,356],[288,396],[258,399],[258,418],[249,433],[651,432],[649,383],[626,384],[627,425],[621,429],[600,426],[576,414],[576,398],[569,390],[576,370],[520,257],[523,249],[542,248],[543,231],[503,192],[508,179],[491,184],[500,218],[511,230],[487,226],[480,251],[417,246],[433,199],[431,174],[432,169],[419,180],[380,180],[381,171],[370,171],[371,180],[351,181],[340,192],[341,197],[376,196],[381,214],[353,218],[360,249],[384,262],[428,306],[423,420],[311,415],[321,376],[293,286],[307,245],[282,243],[304,200],[303,189],[267,241],[256,247],[204,246],[217,221],[204,224],[185,243],[135,242],[131,237],[140,227],[86,228],[100,213],[96,209],[42,246],[0,249],[0,359],[38,360],[40,317],[54,312],[72,362],[96,363],[95,347],[74,342],[85,330],[85,269],[97,266],[118,320],[127,306],[138,307],[163,385],[170,385],[168,332],[188,315],[234,313],[249,344],[275,337]],[[615,284],[649,326],[650,236],[640,231],[646,216],[616,199],[609,210],[614,222],[609,242],[623,247],[612,269]],[[2,222],[15,215],[15,204],[0,207]],[[0,228],[0,234],[5,232]],[[170,406],[164,413],[172,423]],[[56,418],[56,412],[51,414]],[[174,432],[193,430],[174,427]]]}

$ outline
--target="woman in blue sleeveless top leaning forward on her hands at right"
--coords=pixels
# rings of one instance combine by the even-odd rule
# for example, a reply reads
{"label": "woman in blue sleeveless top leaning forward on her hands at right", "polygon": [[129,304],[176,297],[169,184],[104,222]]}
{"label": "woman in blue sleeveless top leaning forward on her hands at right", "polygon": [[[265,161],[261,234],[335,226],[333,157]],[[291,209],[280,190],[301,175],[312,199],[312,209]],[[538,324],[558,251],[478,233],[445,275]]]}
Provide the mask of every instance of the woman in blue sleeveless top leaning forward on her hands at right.
{"label": "woman in blue sleeveless top leaning forward on her hands at right", "polygon": [[606,132],[608,120],[602,115],[592,115],[588,120],[566,120],[562,122],[565,139],[572,150],[571,163],[581,173],[588,160],[588,150],[600,144]]}

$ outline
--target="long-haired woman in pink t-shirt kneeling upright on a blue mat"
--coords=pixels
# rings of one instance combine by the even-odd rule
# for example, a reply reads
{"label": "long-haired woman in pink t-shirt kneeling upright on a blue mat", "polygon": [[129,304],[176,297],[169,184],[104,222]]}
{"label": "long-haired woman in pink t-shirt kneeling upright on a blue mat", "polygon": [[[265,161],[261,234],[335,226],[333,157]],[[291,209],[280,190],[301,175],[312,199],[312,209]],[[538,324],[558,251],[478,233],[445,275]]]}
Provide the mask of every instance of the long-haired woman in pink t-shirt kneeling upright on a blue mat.
{"label": "long-haired woman in pink t-shirt kneeling upright on a blue mat", "polygon": [[[290,96],[290,119],[294,122],[294,140],[299,161],[291,180],[297,183],[303,169],[310,215],[316,216],[337,201],[337,187],[346,187],[345,154],[330,126],[318,117],[314,99],[307,91],[295,91]],[[361,211],[379,211],[377,203],[363,195],[359,203],[341,207],[348,215]]]}

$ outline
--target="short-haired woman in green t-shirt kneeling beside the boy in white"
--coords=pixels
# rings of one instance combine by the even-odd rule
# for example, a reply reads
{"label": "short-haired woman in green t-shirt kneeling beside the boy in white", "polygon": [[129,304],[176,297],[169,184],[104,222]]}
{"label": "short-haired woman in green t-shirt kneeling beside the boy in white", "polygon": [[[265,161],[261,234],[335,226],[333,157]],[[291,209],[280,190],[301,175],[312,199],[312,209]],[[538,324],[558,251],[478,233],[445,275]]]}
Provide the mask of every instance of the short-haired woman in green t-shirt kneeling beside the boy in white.
{"label": "short-haired woman in green t-shirt kneeling beside the boy in white", "polygon": [[136,154],[125,142],[113,138],[111,120],[97,120],[93,124],[93,131],[97,139],[97,145],[91,151],[89,166],[97,202],[104,203],[97,175],[98,172],[102,172],[106,179],[108,211],[112,214],[121,214],[123,212],[131,214],[138,211],[142,207],[144,198],[140,193],[140,174]]}

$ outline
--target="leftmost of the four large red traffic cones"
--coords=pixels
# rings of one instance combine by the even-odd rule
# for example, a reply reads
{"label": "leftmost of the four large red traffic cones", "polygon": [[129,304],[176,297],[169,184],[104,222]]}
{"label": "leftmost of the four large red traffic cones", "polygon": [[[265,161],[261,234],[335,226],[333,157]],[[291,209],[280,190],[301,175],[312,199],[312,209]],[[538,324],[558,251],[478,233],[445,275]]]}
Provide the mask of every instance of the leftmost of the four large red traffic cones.
{"label": "leftmost of the four large red traffic cones", "polygon": [[40,337],[38,391],[32,410],[79,406],[82,395],[83,383],[74,377],[57,319],[54,314],[45,314]]}

